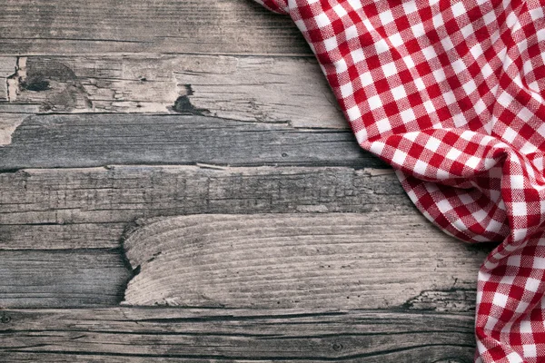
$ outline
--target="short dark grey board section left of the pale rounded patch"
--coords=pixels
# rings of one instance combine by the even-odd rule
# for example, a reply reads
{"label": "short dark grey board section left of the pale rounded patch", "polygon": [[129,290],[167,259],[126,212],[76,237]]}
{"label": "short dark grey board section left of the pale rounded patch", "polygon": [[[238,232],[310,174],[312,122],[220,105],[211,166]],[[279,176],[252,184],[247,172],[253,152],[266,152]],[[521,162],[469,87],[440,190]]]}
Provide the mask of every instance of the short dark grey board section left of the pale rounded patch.
{"label": "short dark grey board section left of the pale rounded patch", "polygon": [[0,250],[0,307],[113,305],[129,276],[119,250]]}

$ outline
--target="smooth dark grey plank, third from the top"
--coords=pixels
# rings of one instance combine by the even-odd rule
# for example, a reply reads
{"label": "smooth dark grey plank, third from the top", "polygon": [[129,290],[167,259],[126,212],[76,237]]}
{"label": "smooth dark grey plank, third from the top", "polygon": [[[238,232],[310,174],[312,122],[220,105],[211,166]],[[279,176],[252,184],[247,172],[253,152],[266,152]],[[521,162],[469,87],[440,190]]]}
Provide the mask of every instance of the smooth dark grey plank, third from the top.
{"label": "smooth dark grey plank, third from the top", "polygon": [[385,167],[352,132],[199,115],[30,116],[0,147],[0,171],[108,164]]}

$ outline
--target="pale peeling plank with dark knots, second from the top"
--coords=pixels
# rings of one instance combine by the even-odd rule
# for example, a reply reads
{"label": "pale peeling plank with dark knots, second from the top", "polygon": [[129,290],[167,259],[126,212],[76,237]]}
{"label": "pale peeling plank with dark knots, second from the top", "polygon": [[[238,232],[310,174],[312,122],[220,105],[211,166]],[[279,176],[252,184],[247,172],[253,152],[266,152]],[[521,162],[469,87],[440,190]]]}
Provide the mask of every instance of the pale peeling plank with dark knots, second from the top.
{"label": "pale peeling plank with dark knots, second from the top", "polygon": [[[187,113],[349,127],[313,57],[21,57],[17,102],[54,113]],[[12,67],[13,68],[13,67]],[[12,69],[13,73],[13,69]]]}

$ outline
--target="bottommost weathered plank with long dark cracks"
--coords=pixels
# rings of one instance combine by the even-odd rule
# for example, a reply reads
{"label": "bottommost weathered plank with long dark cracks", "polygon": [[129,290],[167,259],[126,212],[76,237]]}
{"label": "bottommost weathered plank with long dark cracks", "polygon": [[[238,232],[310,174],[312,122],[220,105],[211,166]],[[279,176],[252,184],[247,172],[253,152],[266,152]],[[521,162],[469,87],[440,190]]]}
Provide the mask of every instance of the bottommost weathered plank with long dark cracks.
{"label": "bottommost weathered plank with long dark cracks", "polygon": [[475,349],[472,314],[134,308],[0,314],[0,354],[10,362],[469,362]]}

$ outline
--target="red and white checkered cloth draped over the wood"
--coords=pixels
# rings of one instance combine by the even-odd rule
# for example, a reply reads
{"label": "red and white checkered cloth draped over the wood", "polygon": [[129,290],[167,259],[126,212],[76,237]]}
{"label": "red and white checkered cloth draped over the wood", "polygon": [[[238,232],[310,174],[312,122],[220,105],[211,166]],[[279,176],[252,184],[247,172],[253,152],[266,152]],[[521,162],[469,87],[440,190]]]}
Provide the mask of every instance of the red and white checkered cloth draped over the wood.
{"label": "red and white checkered cloth draped over the wood", "polygon": [[478,276],[475,361],[545,361],[545,0],[256,1],[292,17],[428,219],[501,242]]}

